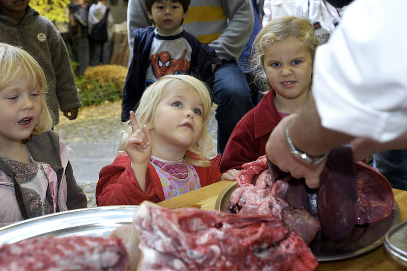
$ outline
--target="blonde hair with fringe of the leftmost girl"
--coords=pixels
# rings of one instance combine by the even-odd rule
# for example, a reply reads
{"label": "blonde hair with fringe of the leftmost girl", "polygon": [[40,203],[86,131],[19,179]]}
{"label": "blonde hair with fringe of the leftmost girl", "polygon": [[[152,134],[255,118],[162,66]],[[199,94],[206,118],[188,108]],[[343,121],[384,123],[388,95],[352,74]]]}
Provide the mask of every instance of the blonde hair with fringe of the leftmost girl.
{"label": "blonde hair with fringe of the leftmost girl", "polygon": [[6,43],[0,43],[0,91],[18,82],[21,74],[27,77],[25,89],[40,87],[41,115],[32,135],[38,136],[52,128],[52,117],[46,100],[47,81],[38,62],[25,50]]}

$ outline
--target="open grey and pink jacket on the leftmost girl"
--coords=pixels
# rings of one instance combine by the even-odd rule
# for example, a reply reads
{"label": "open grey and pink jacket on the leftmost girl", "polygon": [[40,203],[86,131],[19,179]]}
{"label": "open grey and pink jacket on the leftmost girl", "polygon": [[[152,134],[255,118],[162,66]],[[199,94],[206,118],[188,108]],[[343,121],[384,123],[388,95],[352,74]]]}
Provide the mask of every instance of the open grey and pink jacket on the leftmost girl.
{"label": "open grey and pink jacket on the leftmost girl", "polygon": [[[44,132],[26,143],[31,156],[38,162],[51,166],[58,180],[57,211],[85,208],[88,200],[82,188],[76,183],[69,162],[71,149],[59,140],[54,131]],[[15,179],[17,172],[6,159],[0,157],[0,227],[30,219],[30,203]],[[5,174],[5,175],[4,175]],[[14,193],[12,193],[14,192]],[[12,199],[14,197],[14,199]],[[49,189],[47,198],[52,202]],[[33,203],[31,203],[33,204]],[[51,203],[52,204],[52,203]]]}

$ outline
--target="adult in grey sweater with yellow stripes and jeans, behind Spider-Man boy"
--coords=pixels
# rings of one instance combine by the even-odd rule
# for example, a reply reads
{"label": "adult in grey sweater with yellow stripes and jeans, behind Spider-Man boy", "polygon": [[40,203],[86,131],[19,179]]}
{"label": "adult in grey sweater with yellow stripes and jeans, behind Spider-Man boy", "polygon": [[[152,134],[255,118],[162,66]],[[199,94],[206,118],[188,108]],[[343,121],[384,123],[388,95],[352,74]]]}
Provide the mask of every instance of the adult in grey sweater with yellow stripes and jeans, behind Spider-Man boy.
{"label": "adult in grey sweater with yellow stripes and jeans, behind Spider-Man boy", "polygon": [[[253,8],[250,0],[191,0],[183,29],[200,42],[215,49],[222,60],[215,66],[213,95],[218,105],[218,152],[222,153],[238,121],[253,107],[251,91],[238,59],[253,30]],[[134,28],[152,25],[143,0],[130,0],[127,7],[127,29],[133,51]]]}

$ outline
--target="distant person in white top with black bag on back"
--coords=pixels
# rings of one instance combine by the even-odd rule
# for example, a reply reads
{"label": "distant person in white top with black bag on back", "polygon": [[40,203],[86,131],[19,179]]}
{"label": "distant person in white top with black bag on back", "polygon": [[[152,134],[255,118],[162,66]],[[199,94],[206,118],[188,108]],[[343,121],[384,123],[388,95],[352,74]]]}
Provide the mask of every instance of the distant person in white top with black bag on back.
{"label": "distant person in white top with black bag on back", "polygon": [[112,52],[112,39],[113,39],[113,16],[108,13],[106,28],[107,28],[107,40],[98,41],[92,38],[92,29],[95,24],[100,22],[106,12],[109,12],[109,8],[106,6],[106,0],[98,1],[97,4],[92,4],[89,8],[88,14],[88,34],[90,35],[89,43],[91,47],[91,66],[97,66],[100,63],[109,64]]}

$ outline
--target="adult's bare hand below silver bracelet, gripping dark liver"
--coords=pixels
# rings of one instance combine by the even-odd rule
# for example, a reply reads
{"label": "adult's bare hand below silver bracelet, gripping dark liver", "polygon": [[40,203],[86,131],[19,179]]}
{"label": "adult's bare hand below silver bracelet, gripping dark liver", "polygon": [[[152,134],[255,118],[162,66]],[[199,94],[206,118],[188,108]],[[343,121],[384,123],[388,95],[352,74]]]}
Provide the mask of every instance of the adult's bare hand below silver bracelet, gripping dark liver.
{"label": "adult's bare hand below silver bracelet, gripping dark liver", "polygon": [[317,188],[319,187],[319,175],[324,170],[327,158],[318,165],[310,166],[296,159],[290,153],[284,132],[287,122],[295,117],[296,114],[291,114],[283,118],[274,128],[266,144],[267,158],[280,170],[289,172],[294,178],[304,177],[308,187]]}

